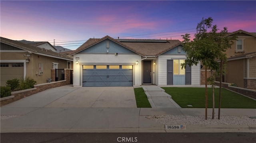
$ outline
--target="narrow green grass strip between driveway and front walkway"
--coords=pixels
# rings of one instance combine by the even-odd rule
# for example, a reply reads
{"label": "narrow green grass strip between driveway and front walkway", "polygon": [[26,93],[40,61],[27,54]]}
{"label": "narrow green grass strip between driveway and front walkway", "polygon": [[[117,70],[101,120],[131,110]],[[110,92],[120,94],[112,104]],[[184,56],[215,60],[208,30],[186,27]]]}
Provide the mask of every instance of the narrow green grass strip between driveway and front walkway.
{"label": "narrow green grass strip between driveway and front walkway", "polygon": [[143,88],[134,88],[137,108],[151,108]]}

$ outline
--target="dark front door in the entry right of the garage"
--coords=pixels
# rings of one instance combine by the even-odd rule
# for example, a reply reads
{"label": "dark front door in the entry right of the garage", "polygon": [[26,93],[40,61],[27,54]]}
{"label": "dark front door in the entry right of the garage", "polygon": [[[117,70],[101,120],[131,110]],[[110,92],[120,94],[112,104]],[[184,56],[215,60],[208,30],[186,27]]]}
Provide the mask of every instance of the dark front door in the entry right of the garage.
{"label": "dark front door in the entry right of the garage", "polygon": [[151,84],[151,61],[143,61],[143,83]]}

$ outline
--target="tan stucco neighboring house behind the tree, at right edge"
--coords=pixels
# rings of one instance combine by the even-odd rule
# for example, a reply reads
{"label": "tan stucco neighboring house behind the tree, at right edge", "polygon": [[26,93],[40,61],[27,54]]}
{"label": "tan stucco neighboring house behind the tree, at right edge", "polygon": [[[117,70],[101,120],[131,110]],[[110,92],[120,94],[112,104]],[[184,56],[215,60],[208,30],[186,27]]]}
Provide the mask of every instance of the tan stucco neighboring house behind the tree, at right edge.
{"label": "tan stucco neighboring house behind the tree, at right edge", "polygon": [[238,30],[226,36],[231,35],[236,35],[237,41],[226,51],[228,63],[223,82],[256,89],[256,33]]}

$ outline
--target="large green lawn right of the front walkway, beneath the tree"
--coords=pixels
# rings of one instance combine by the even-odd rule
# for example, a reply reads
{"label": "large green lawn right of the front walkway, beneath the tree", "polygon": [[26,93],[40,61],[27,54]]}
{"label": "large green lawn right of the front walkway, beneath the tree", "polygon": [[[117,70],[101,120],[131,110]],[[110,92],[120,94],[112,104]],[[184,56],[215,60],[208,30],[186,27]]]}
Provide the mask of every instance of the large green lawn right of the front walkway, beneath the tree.
{"label": "large green lawn right of the front walkway, beneath the tree", "polygon": [[[205,88],[165,87],[166,93],[182,108],[205,108]],[[208,108],[212,108],[212,88],[208,88]],[[215,108],[219,105],[219,88],[215,88]],[[188,107],[190,104],[193,107]],[[221,108],[256,108],[256,101],[222,88]]]}

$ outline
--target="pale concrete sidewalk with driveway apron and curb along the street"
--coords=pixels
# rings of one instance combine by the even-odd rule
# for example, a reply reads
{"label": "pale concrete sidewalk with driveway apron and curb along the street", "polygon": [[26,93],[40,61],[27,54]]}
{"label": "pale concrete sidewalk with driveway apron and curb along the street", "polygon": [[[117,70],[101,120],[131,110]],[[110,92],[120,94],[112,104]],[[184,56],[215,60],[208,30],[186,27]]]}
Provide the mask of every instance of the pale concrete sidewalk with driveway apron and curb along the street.
{"label": "pale concrete sidewalk with driveway apron and curb along the street", "polygon": [[[256,132],[256,125],[186,125],[186,130],[166,130],[146,115],[204,115],[203,108],[1,108],[7,132]],[[211,109],[209,109],[210,112]],[[221,109],[222,116],[256,116],[255,109]]]}

